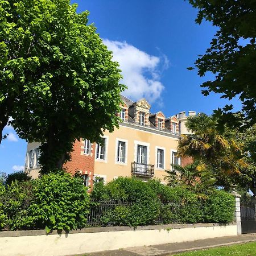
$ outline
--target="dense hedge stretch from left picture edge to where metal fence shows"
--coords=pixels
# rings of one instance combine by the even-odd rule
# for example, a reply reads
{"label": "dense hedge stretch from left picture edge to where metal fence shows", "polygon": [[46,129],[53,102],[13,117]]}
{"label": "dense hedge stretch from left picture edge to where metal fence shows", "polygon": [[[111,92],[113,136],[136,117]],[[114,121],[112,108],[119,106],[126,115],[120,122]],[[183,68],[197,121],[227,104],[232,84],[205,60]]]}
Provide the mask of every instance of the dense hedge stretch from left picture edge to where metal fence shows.
{"label": "dense hedge stretch from left picture edge to where metal fence shows", "polygon": [[48,174],[33,181],[15,180],[1,188],[2,228],[45,228],[49,232],[52,229],[71,230],[86,225],[89,195],[80,177],[71,177],[64,172]]}

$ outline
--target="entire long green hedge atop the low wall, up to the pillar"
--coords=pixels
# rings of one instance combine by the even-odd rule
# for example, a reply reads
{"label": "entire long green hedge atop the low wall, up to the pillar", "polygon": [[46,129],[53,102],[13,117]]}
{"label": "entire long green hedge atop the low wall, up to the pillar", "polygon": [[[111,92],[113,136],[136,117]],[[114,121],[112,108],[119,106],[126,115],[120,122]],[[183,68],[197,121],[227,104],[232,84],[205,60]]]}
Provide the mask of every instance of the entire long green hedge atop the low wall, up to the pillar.
{"label": "entire long green hedge atop the low wall, up to the pillar", "polygon": [[206,201],[159,180],[119,177],[94,184],[90,196],[80,177],[49,174],[0,185],[0,228],[77,229],[86,226],[222,222],[233,220],[234,197],[216,191]]}

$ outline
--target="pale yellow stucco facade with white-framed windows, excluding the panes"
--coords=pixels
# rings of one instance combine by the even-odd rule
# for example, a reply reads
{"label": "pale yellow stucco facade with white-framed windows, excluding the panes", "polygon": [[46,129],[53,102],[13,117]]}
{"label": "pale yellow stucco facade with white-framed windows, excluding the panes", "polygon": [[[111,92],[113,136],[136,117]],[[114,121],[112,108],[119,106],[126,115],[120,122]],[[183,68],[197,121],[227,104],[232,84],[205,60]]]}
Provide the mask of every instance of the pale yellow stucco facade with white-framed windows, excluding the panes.
{"label": "pale yellow stucco facade with white-framed windows, excluding the panes", "polygon": [[[106,131],[105,160],[95,159],[94,176],[103,177],[109,182],[119,176],[131,176],[131,163],[137,162],[138,145],[147,147],[147,164],[154,165],[154,177],[164,182],[164,170],[170,170],[172,163],[172,152],[177,149],[178,135],[152,129],[150,127],[136,124],[120,123],[119,129],[113,133]],[[125,142],[125,163],[117,162],[118,141]],[[97,148],[97,146],[96,146]],[[157,150],[163,150],[163,166],[158,168]],[[143,180],[152,176],[137,175]]]}

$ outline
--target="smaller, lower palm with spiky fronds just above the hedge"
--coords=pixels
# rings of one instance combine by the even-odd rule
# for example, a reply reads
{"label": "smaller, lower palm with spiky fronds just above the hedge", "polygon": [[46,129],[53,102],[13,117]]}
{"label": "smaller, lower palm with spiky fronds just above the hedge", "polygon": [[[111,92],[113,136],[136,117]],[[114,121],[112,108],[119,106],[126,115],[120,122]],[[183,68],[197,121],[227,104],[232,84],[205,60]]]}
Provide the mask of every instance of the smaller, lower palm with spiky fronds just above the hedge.
{"label": "smaller, lower palm with spiky fronds just above the hedge", "polygon": [[215,175],[199,160],[184,167],[172,164],[172,170],[166,172],[164,179],[168,181],[168,185],[184,187],[195,193],[200,200],[206,200],[214,191]]}

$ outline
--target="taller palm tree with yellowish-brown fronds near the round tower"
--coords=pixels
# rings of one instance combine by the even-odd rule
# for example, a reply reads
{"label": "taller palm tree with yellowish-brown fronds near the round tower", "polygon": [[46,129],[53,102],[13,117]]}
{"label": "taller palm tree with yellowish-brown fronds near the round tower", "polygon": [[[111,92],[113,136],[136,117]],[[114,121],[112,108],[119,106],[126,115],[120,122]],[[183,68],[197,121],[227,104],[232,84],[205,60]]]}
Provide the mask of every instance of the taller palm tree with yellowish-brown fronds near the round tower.
{"label": "taller palm tree with yellowish-brown fronds near the round tower", "polygon": [[188,117],[186,127],[192,134],[181,135],[179,156],[191,156],[206,163],[218,174],[219,185],[226,185],[225,175],[239,174],[244,163],[234,131],[226,127],[218,131],[217,119],[203,113]]}

